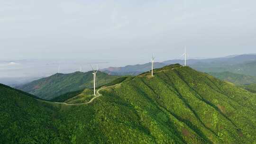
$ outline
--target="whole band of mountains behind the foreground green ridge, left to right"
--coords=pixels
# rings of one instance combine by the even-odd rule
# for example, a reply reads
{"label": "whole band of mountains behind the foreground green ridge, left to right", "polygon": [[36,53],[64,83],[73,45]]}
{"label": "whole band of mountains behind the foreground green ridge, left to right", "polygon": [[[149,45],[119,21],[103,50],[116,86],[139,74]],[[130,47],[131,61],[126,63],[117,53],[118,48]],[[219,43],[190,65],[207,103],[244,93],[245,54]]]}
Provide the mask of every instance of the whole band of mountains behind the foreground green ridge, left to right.
{"label": "whole band of mountains behind the foreground green ridge, left to right", "polygon": [[[183,63],[183,60],[170,60],[155,63],[155,69],[162,68],[169,63]],[[243,54],[221,58],[187,61],[189,66],[223,80],[243,85],[256,82],[256,55]],[[98,86],[115,80],[119,76],[139,75],[151,71],[151,63],[127,65],[125,67],[110,67],[102,69],[97,75]],[[26,84],[16,86],[17,89],[36,95],[42,99],[54,99],[67,92],[92,88],[92,72],[73,72],[69,74],[56,73]]]}

